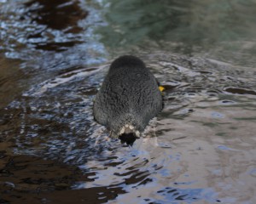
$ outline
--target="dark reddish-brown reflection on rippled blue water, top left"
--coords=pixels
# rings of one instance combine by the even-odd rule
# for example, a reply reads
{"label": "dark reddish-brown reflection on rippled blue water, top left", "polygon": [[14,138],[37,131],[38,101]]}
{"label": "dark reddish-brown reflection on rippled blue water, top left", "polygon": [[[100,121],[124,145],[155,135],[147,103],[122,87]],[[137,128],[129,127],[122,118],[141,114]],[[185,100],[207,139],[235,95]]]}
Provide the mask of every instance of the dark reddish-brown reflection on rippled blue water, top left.
{"label": "dark reddish-brown reflection on rippled blue water, top left", "polygon": [[36,41],[36,47],[44,50],[63,51],[73,47],[78,40],[71,42],[40,42],[36,39],[44,38],[44,31],[47,28],[62,30],[65,33],[79,33],[83,29],[78,26],[79,20],[83,20],[88,12],[79,8],[78,2],[68,0],[57,0],[50,2],[47,0],[35,0],[25,4],[28,8],[27,14],[21,19],[35,20],[39,25],[44,25],[43,30],[35,31],[29,34],[28,39]]}

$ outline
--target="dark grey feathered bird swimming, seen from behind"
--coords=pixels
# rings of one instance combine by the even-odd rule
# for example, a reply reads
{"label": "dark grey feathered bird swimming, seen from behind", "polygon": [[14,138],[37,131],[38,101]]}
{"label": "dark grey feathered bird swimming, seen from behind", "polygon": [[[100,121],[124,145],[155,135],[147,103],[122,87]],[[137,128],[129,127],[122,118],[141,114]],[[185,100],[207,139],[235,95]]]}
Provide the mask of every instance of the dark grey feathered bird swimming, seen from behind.
{"label": "dark grey feathered bird swimming, seen from behind", "polygon": [[131,55],[115,59],[96,94],[96,121],[115,138],[138,138],[161,110],[158,82],[143,61]]}

